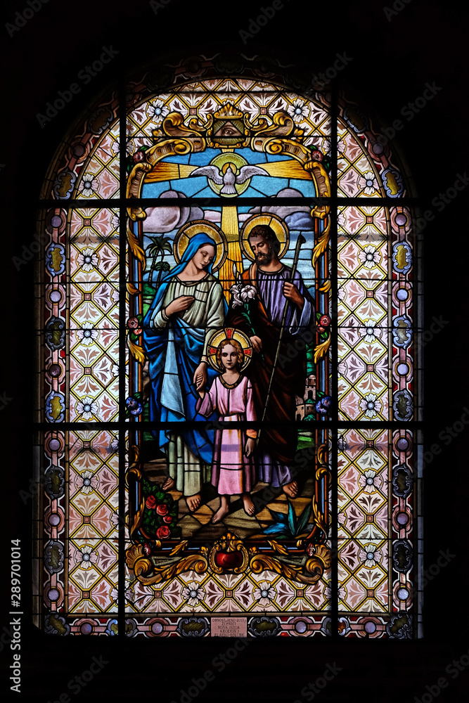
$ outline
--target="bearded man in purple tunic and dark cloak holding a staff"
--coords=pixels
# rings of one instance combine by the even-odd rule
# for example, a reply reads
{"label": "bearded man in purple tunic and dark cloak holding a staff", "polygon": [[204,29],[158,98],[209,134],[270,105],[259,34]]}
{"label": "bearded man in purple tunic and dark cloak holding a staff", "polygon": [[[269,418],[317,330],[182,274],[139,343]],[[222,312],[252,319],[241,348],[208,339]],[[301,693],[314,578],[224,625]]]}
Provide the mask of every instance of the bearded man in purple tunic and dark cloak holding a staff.
{"label": "bearded man in purple tunic and dark cloak holding a staff", "polygon": [[[314,302],[307,291],[299,271],[291,280],[291,269],[278,259],[281,243],[274,230],[268,225],[252,228],[248,241],[254,263],[241,278],[245,285],[256,289],[256,296],[250,301],[249,324],[243,309],[234,307],[229,311],[227,325],[236,327],[250,337],[254,354],[246,372],[252,383],[255,413],[257,418],[264,416],[267,423],[277,423],[277,427],[262,427],[259,445],[255,454],[257,480],[282,486],[285,494],[295,498],[298,486],[293,479],[293,462],[297,449],[295,420],[295,394],[302,397],[306,383],[306,352],[297,352],[294,359],[287,355],[296,335],[314,323]],[[281,330],[283,309],[288,301],[287,316],[269,399],[267,391]],[[295,349],[296,352],[296,349]]]}

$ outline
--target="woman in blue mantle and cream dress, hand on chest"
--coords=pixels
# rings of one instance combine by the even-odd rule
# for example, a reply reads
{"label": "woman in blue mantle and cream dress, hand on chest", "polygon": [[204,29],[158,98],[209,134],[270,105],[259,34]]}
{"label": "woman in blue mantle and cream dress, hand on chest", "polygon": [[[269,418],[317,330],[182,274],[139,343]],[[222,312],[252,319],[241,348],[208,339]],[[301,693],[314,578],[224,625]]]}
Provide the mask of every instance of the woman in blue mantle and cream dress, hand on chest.
{"label": "woman in blue mantle and cream dress, hand on chest", "polygon": [[216,375],[208,366],[207,344],[214,331],[223,327],[227,310],[221,283],[212,273],[219,258],[217,246],[207,234],[194,234],[179,264],[162,279],[143,320],[150,420],[184,423],[181,429],[153,433],[167,457],[163,489],[182,491],[189,510],[200,505],[202,484],[210,481],[213,454],[214,430],[198,430],[195,422],[192,426],[186,423],[203,419],[195,410],[198,390]]}

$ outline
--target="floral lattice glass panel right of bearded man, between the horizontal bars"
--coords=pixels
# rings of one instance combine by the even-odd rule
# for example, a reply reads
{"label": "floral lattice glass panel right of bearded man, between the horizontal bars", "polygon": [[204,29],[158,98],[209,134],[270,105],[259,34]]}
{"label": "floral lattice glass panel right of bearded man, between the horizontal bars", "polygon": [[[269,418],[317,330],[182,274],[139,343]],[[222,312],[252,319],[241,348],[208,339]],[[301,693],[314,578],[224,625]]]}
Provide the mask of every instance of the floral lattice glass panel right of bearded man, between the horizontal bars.
{"label": "floral lattice glass panel right of bearded man, between the horizontal bars", "polygon": [[338,406],[342,420],[388,420],[389,212],[338,209]]}

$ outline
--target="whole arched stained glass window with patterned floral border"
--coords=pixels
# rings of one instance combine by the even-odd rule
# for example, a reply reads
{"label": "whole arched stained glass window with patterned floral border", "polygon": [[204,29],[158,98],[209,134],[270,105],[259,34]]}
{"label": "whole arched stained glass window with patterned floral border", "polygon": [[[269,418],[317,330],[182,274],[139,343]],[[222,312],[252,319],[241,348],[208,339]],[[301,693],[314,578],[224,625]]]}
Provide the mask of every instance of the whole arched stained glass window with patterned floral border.
{"label": "whole arched stained glass window with patterned floral border", "polygon": [[45,631],[418,636],[406,183],[359,105],[256,60],[142,72],[64,141],[37,283]]}

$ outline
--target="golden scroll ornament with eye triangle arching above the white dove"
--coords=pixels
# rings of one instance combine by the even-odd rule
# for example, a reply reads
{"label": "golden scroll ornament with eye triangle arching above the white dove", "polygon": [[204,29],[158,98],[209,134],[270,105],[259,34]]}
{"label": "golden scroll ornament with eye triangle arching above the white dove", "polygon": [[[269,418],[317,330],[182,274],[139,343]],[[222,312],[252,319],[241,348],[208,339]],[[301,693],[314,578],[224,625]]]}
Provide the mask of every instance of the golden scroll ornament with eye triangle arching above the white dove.
{"label": "golden scroll ornament with eye triangle arching above the white dove", "polygon": [[[279,110],[271,117],[271,124],[264,117],[251,122],[247,112],[238,110],[233,104],[226,103],[216,112],[207,115],[205,122],[198,117],[191,117],[186,124],[180,112],[170,112],[158,129],[153,130],[154,145],[143,153],[144,160],[136,163],[127,180],[127,198],[141,198],[143,183],[152,181],[152,174],[158,171],[158,179],[207,176],[207,183],[219,195],[234,197],[248,187],[252,176],[268,174],[288,178],[304,178],[305,172],[314,183],[316,198],[330,197],[329,176],[323,165],[311,158],[311,150],[304,146],[304,130],[295,125],[292,117],[284,110]],[[169,156],[198,153],[207,147],[219,148],[223,153],[215,157],[206,167],[192,165],[160,163]],[[263,162],[259,165],[244,164],[236,148],[250,148],[252,151],[270,155],[289,156],[290,160]],[[174,169],[177,175],[172,175]],[[203,173],[202,173],[203,172]],[[311,217],[327,219],[325,231],[314,247],[312,265],[326,251],[330,218],[329,205],[315,205]],[[127,209],[131,221],[146,219],[145,210],[140,207]],[[127,226],[127,240],[132,254],[146,265],[145,252],[136,232]],[[241,243],[243,245],[243,243]],[[248,251],[248,257],[251,253]],[[227,288],[229,290],[229,286]],[[129,291],[131,295],[136,292]]]}

